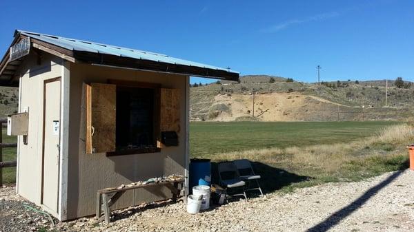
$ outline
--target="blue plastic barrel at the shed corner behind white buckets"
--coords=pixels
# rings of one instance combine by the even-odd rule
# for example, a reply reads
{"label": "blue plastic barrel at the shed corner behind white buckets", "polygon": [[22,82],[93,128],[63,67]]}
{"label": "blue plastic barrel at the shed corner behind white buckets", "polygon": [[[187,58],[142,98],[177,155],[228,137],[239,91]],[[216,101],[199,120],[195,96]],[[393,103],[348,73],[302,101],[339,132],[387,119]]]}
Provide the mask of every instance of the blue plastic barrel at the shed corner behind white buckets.
{"label": "blue plastic barrel at the shed corner behind white buckets", "polygon": [[209,159],[190,160],[190,189],[196,185],[208,185],[211,183],[211,164]]}

